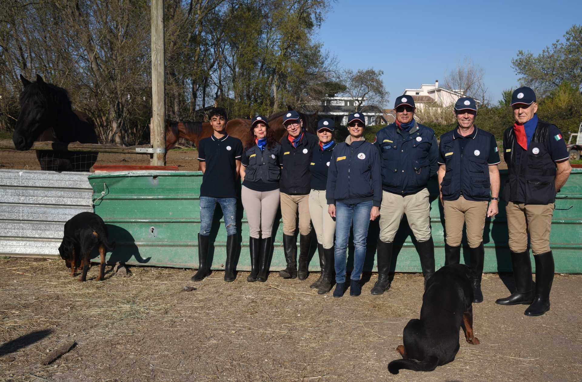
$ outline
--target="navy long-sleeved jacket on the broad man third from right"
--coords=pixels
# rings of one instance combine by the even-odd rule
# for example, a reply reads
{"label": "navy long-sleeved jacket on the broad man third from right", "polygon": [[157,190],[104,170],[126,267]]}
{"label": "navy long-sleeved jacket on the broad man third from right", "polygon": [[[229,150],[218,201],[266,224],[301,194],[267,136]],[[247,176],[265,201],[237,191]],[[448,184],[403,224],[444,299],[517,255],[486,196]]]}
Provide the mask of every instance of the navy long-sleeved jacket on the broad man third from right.
{"label": "navy long-sleeved jacket on the broad man third from right", "polygon": [[380,153],[385,191],[414,194],[437,174],[437,137],[427,126],[414,122],[409,131],[402,131],[391,123],[376,134],[374,145]]}

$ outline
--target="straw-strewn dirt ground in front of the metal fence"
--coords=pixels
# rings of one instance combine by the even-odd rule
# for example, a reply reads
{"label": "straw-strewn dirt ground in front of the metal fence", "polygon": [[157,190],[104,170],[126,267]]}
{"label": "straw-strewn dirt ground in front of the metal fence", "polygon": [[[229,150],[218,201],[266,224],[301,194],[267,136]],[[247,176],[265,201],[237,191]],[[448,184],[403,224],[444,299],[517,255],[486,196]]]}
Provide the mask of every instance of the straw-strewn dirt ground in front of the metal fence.
{"label": "straw-strewn dirt ground in front of the metal fence", "polygon": [[[108,267],[109,270],[109,267]],[[269,274],[226,284],[221,271],[191,282],[192,271],[133,267],[105,281],[69,277],[62,260],[0,259],[0,381],[574,381],[582,379],[582,275],[556,275],[552,308],[499,306],[508,295],[484,275],[474,304],[475,336],[460,331],[456,359],[434,372],[386,365],[399,358],[406,323],[418,317],[423,279],[396,274],[392,288],[336,299],[307,281]],[[510,280],[503,275],[503,280]],[[183,291],[194,286],[195,291]],[[71,351],[38,363],[68,341]]]}

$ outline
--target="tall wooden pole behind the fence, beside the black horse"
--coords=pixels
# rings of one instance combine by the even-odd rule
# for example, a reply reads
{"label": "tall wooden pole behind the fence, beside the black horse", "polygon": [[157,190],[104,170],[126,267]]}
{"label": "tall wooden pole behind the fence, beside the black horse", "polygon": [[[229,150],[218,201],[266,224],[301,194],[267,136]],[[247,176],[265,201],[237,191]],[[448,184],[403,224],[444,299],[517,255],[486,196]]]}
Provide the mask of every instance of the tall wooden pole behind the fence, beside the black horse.
{"label": "tall wooden pole behind the fence, beside the black horse", "polygon": [[151,104],[150,143],[154,166],[166,165],[166,76],[164,52],[164,0],[151,0]]}

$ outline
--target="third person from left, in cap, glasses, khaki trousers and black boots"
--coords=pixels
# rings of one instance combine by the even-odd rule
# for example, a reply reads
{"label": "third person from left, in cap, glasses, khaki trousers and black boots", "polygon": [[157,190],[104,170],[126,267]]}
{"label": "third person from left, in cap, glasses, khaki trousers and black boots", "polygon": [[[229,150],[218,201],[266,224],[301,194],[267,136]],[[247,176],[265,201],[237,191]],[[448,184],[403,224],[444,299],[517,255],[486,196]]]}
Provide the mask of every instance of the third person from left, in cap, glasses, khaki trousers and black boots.
{"label": "third person from left, in cap, glasses, khaki trousers and black boots", "polygon": [[[318,144],[315,135],[303,130],[303,121],[296,111],[283,115],[287,130],[281,142],[281,217],[283,218],[283,250],[287,267],[279,271],[282,278],[307,278],[307,257],[311,246],[311,152]],[[299,208],[299,271],[297,270],[297,209]]]}

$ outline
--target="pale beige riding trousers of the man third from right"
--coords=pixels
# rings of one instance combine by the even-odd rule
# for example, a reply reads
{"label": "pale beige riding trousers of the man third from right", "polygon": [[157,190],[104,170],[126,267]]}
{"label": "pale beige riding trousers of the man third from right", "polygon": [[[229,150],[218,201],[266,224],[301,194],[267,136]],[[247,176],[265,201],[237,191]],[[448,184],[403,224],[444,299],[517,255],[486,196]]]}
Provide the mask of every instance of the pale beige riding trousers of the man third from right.
{"label": "pale beige riding trousers of the man third from right", "polygon": [[424,188],[407,196],[382,191],[380,240],[385,243],[394,241],[404,214],[417,242],[425,242],[431,238],[430,203],[428,189]]}

